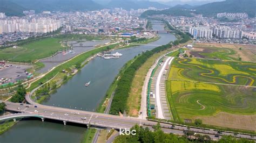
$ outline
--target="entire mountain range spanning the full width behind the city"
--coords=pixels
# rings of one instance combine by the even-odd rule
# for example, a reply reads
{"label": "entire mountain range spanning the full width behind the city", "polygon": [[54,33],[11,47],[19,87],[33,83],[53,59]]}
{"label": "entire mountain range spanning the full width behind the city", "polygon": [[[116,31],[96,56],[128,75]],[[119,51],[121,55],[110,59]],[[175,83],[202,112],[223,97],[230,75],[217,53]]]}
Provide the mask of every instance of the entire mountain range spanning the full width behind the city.
{"label": "entire mountain range spanning the full width behind the city", "polygon": [[[220,1],[220,0],[215,0]],[[143,17],[166,14],[173,16],[191,16],[191,11],[184,9],[194,9],[193,13],[201,13],[203,16],[215,16],[220,12],[246,12],[248,16],[255,17],[256,0],[226,0],[221,2],[152,2],[149,0],[0,0],[0,12],[5,12],[7,16],[23,16],[24,10],[42,11],[86,11],[99,10],[104,8],[146,9],[154,7],[165,9],[162,11],[149,10],[142,14]],[[179,4],[178,4],[179,3]],[[186,3],[186,4],[184,4]],[[206,3],[206,4],[203,4]],[[170,5],[178,4],[170,8]],[[184,4],[184,5],[180,5]],[[190,5],[193,4],[193,5]],[[203,5],[196,5],[203,4]],[[169,9],[166,9],[169,8]]]}

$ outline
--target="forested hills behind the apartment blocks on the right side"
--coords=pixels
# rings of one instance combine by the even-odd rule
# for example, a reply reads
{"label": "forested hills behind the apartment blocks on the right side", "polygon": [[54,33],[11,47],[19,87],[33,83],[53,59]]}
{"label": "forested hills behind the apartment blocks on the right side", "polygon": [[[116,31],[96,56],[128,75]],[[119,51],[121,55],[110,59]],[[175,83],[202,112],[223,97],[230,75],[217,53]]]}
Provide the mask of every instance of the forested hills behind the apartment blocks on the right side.
{"label": "forested hills behind the apartment blocks on the right side", "polygon": [[[208,3],[200,6],[195,6],[193,13],[203,14],[205,17],[216,16],[217,13],[221,12],[246,12],[249,17],[255,17],[255,5],[256,0],[226,0],[223,2]],[[187,7],[187,6],[186,6]],[[142,17],[152,16],[152,15],[173,15],[173,16],[191,16],[191,11],[186,11],[188,9],[185,6],[174,6],[173,8],[153,11],[148,10],[142,13]],[[179,12],[177,12],[179,11]]]}

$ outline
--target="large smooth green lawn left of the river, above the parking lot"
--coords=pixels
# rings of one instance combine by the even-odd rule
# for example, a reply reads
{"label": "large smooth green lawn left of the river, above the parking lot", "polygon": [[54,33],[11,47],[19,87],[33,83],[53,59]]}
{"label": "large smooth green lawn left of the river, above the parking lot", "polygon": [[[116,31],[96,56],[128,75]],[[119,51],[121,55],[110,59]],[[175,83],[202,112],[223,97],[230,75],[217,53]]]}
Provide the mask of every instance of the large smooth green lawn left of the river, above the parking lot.
{"label": "large smooth green lawn left of the river, above the parking lot", "polygon": [[56,51],[64,49],[60,46],[60,39],[46,38],[17,48],[6,48],[0,50],[0,60],[17,62],[32,62],[51,56]]}

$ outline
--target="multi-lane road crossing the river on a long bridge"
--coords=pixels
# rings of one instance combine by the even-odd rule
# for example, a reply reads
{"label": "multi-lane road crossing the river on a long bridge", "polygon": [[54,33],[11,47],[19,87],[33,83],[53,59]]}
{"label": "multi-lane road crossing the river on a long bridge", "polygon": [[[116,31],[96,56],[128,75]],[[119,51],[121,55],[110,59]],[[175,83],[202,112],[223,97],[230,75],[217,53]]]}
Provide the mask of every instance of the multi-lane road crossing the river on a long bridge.
{"label": "multi-lane road crossing the river on a long bridge", "polygon": [[[104,113],[96,113],[82,110],[74,110],[74,109],[66,109],[66,108],[58,108],[53,106],[46,105],[38,105],[35,108],[34,105],[31,104],[19,104],[19,103],[11,103],[5,102],[6,110],[20,112],[19,114],[13,114],[8,116],[1,116],[0,121],[12,119],[12,118],[22,118],[22,117],[38,117],[41,118],[42,121],[45,119],[54,119],[63,121],[64,124],[69,123],[78,123],[78,124],[86,124],[87,126],[97,126],[97,127],[105,127],[105,128],[114,128],[116,130],[120,130],[120,128],[131,128],[132,126],[138,124],[143,127],[149,127],[152,130],[152,126],[156,125],[156,121],[132,118],[132,117],[120,117],[114,115],[107,115]],[[36,111],[35,111],[36,110]],[[82,119],[85,118],[86,119]],[[174,133],[183,135],[183,131],[187,130],[187,127],[175,125],[172,127],[172,124],[161,123],[161,128],[166,133]],[[208,134],[212,139],[218,139],[214,137],[214,134],[217,134],[217,131],[212,130],[204,130],[190,127],[191,131]],[[219,135],[233,135],[233,133],[223,132]],[[251,135],[246,134],[238,134],[236,137],[238,138],[248,138],[256,140],[255,137],[251,137]]]}

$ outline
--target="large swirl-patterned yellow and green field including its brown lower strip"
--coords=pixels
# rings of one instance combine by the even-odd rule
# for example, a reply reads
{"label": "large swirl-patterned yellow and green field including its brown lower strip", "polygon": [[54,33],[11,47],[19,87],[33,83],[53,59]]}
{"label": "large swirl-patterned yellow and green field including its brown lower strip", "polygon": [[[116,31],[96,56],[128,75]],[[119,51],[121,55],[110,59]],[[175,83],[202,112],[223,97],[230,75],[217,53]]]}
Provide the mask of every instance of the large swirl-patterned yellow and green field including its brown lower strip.
{"label": "large swirl-patterned yellow and green field including its brown lower strip", "polygon": [[174,59],[166,81],[173,120],[254,131],[255,70],[253,62]]}

